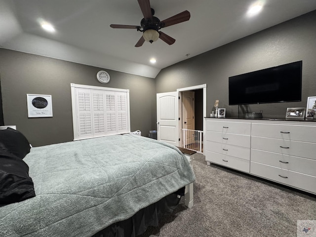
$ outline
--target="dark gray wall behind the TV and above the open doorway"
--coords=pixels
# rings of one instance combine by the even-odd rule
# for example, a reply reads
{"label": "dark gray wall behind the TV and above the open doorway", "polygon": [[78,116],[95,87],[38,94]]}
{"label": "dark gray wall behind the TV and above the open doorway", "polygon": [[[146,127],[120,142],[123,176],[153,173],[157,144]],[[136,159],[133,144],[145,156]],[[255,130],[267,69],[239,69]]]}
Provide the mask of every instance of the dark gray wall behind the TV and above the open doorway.
{"label": "dark gray wall behind the TV and above the open doorway", "polygon": [[156,91],[207,84],[207,115],[219,99],[227,117],[238,116],[228,105],[228,78],[243,73],[303,60],[302,101],[240,106],[239,111],[259,112],[264,118],[284,118],[287,107],[306,107],[316,96],[316,11],[262,32],[197,55],[160,71]]}

